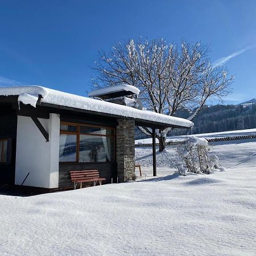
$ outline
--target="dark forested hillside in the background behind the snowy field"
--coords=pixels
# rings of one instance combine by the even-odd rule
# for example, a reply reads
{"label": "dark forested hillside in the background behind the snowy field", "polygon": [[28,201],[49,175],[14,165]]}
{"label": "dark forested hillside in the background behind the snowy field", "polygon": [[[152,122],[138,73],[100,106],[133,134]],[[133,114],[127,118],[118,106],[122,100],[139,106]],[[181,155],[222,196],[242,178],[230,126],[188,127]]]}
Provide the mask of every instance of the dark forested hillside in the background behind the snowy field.
{"label": "dark forested hillside in the background behind the snowy field", "polygon": [[[176,116],[187,118],[189,112],[187,110],[179,110]],[[256,107],[255,104],[246,108],[242,105],[205,106],[193,119],[193,122],[195,123],[193,134],[252,129],[256,127]],[[191,131],[189,131],[190,133]],[[184,134],[187,134],[187,130],[173,129],[168,136]],[[141,139],[147,138],[147,136],[136,129],[135,138]]]}

